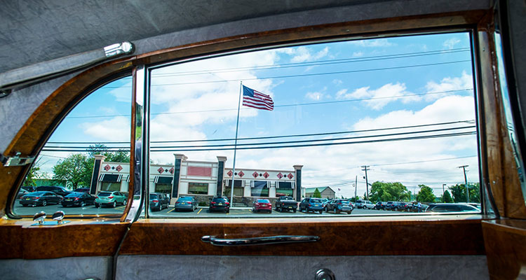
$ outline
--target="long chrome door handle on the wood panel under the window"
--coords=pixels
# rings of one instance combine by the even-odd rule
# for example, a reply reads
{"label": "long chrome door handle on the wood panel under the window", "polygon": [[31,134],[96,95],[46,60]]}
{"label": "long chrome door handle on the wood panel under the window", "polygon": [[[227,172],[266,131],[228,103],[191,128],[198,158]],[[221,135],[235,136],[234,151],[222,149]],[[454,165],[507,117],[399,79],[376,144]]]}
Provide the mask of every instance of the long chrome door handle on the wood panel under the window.
{"label": "long chrome door handle on the wood panel under the window", "polygon": [[216,238],[210,235],[201,237],[201,241],[215,246],[246,246],[265,245],[278,243],[315,242],[320,237],[313,235],[278,235],[273,237],[251,237],[251,238]]}

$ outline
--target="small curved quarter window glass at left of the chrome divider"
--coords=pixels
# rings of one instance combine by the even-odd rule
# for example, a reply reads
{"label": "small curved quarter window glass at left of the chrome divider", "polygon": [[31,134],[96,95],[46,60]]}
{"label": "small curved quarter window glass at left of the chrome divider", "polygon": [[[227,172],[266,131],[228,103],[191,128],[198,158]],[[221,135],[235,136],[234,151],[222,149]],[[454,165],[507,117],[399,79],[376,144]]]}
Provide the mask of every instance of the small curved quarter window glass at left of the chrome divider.
{"label": "small curved quarter window glass at left of the chrome divider", "polygon": [[[34,161],[22,186],[53,192],[60,196],[58,204],[50,202],[31,209],[17,200],[13,213],[32,216],[36,211],[45,211],[51,216],[60,210],[66,215],[122,214],[126,204],[122,198],[115,201],[114,208],[114,201],[99,202],[95,196],[100,196],[102,190],[128,191],[130,83],[129,77],[115,80],[79,102]],[[81,197],[74,193],[76,190],[86,192],[93,200],[86,200],[84,207],[64,206],[64,197]]]}

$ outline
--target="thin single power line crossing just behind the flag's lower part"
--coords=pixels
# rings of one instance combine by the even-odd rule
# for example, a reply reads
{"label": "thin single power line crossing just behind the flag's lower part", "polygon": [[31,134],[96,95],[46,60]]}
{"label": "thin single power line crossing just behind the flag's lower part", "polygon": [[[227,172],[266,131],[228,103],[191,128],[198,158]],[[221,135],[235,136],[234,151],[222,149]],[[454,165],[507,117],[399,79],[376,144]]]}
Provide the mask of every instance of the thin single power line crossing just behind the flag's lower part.
{"label": "thin single power line crossing just behind the flag's lower part", "polygon": [[[311,105],[320,105],[320,104],[339,104],[345,102],[359,102],[367,100],[379,100],[379,99],[391,99],[391,98],[405,98],[405,97],[419,97],[424,95],[432,94],[446,94],[452,92],[464,92],[468,90],[473,90],[473,88],[466,88],[462,90],[445,90],[442,92],[424,92],[424,93],[415,93],[415,94],[405,94],[405,95],[393,95],[388,97],[369,97],[369,98],[356,98],[356,99],[345,99],[337,101],[328,101],[328,102],[309,102],[309,103],[298,103],[298,104],[283,104],[275,105],[274,108],[284,108],[284,107],[293,107],[293,106],[311,106]],[[251,108],[242,108],[241,110],[253,110]],[[164,113],[150,113],[151,116],[161,116],[161,115],[176,115],[184,113],[209,113],[209,112],[223,112],[223,111],[237,111],[237,109],[212,109],[212,110],[198,110],[198,111],[179,111],[179,112],[164,112]],[[128,114],[121,115],[104,115],[104,116],[69,116],[66,119],[81,119],[81,118],[115,118],[115,117],[130,117]]]}

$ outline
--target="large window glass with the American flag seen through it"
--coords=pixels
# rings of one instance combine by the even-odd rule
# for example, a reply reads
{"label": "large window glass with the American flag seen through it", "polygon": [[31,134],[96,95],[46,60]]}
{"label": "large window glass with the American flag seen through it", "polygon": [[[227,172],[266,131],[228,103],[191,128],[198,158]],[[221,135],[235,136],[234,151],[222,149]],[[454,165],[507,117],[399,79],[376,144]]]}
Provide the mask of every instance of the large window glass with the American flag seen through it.
{"label": "large window glass with the American flag seen through it", "polygon": [[[155,66],[150,181],[173,176],[172,197],[192,196],[205,209],[213,197],[228,197],[231,209],[220,218],[248,215],[257,197],[274,203],[285,195],[297,203],[304,197],[378,203],[351,216],[480,202],[471,53],[468,32],[457,32]],[[150,192],[155,188],[151,183]],[[399,202],[410,207],[403,213]],[[269,215],[335,216],[285,212]]]}

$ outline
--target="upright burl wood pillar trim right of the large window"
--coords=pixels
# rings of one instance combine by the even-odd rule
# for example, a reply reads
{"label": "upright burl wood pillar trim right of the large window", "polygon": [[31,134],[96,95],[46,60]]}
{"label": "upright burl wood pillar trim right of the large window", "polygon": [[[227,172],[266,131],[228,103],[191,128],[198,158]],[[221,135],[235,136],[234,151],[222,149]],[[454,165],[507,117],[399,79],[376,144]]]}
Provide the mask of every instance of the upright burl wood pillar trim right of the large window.
{"label": "upright burl wood pillar trim right of the large window", "polygon": [[[480,77],[478,98],[481,122],[481,150],[485,153],[483,162],[485,177],[493,193],[501,216],[526,218],[526,205],[518,179],[518,168],[513,156],[513,148],[508,137],[507,121],[502,104],[499,84],[497,57],[494,42],[492,14],[478,26],[480,44]],[[483,169],[484,170],[484,169]]]}

